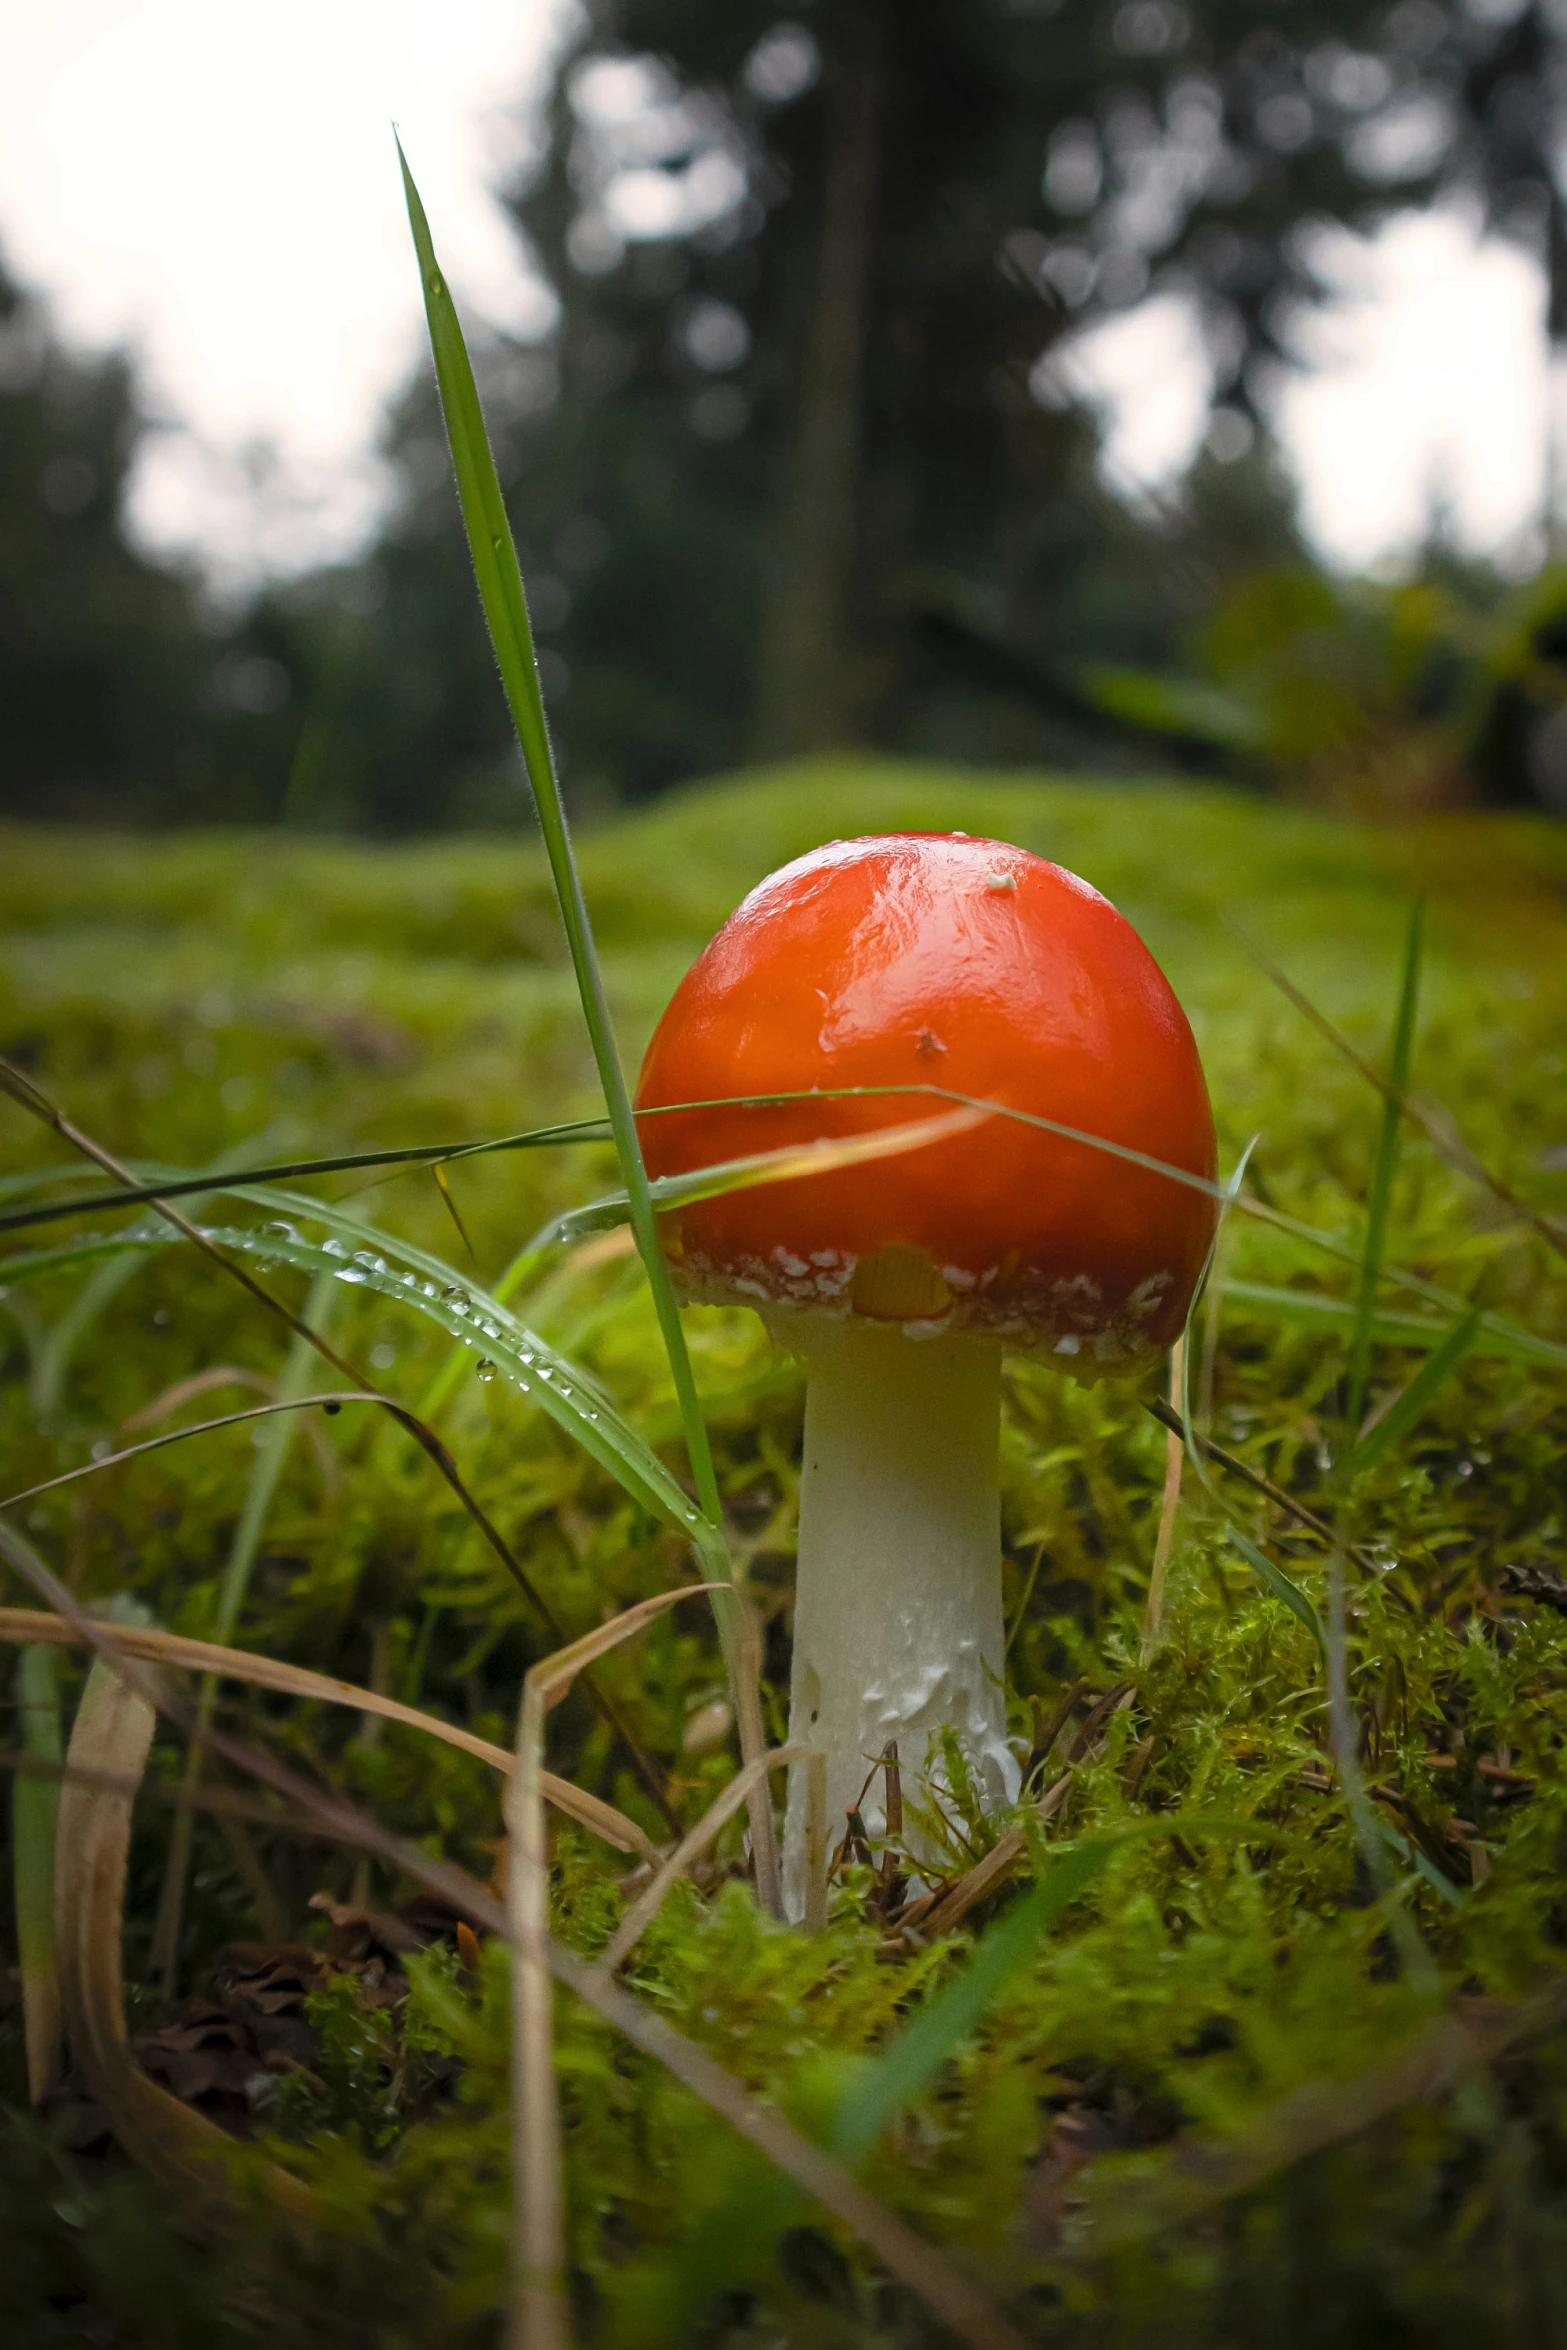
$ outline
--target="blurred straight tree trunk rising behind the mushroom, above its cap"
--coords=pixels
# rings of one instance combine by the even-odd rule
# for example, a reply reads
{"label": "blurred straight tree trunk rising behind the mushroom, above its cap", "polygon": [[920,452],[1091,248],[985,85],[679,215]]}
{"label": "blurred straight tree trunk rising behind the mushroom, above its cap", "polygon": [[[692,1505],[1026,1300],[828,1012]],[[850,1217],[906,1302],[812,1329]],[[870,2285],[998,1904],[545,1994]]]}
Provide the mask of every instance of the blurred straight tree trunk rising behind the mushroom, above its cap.
{"label": "blurred straight tree trunk rising behind the mushroom, above its cap", "polygon": [[756,691],[759,757],[853,740],[850,578],[881,134],[879,0],[827,56],[822,242]]}

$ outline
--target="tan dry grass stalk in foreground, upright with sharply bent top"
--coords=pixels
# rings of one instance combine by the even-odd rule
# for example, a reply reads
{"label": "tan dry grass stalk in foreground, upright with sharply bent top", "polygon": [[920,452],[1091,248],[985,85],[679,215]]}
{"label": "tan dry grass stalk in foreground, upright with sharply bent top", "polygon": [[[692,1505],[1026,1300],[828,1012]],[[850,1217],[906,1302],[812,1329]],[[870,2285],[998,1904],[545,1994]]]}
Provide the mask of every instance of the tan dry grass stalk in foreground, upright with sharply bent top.
{"label": "tan dry grass stalk in foreground, upright with sharply bent top", "polygon": [[583,1666],[644,1631],[655,1614],[714,1584],[660,1591],[536,1664],[522,1685],[517,1767],[505,1791],[512,1842],[505,1873],[512,1962],[512,2350],[566,2350],[566,2190],[554,2082],[550,1990],[550,1847],[545,1838],[545,1720]]}

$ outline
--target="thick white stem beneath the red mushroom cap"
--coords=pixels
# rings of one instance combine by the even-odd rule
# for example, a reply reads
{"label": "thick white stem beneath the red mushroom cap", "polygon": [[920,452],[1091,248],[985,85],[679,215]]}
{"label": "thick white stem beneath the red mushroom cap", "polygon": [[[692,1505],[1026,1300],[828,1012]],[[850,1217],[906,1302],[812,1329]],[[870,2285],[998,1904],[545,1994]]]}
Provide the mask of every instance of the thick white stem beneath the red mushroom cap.
{"label": "thick white stem beneath the red mushroom cap", "polygon": [[[782,1335],[782,1332],[780,1332]],[[811,1321],[806,1354],[789,1741],[827,1753],[827,1838],[888,1739],[916,1793],[930,1739],[956,1730],[989,1802],[1017,1795],[1006,1746],[1001,1347],[904,1337],[900,1325]],[[806,1911],[806,1786],[789,1772],[785,1908]],[[940,1774],[937,1774],[940,1777]],[[886,1826],[886,1777],[862,1819]]]}

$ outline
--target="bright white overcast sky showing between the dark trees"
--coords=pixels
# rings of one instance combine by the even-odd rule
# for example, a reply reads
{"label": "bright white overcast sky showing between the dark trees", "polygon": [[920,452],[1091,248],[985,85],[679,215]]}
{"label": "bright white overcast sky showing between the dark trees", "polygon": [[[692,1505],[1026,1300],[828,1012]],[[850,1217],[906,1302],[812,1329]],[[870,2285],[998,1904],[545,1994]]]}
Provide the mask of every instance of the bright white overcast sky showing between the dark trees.
{"label": "bright white overcast sky showing between the dark trees", "polygon": [[[421,341],[397,120],[470,313],[547,306],[491,188],[519,153],[569,0],[0,0],[0,249],[68,334],[129,341],[172,430],[134,519],[226,580],[350,552],[371,526],[381,402]],[[1440,496],[1459,533],[1529,552],[1546,451],[1541,294],[1457,214],[1341,240],[1344,303],[1280,423],[1341,564],[1388,559]],[[1076,383],[1107,463],[1168,479],[1203,425],[1191,322],[1102,329]]]}

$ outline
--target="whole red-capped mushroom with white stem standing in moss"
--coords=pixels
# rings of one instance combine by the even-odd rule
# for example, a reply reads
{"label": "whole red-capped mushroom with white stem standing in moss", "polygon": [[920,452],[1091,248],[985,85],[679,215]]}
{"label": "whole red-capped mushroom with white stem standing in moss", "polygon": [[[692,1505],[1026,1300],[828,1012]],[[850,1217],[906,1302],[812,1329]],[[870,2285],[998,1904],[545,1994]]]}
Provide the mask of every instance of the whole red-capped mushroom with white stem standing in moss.
{"label": "whole red-capped mushroom with white stem standing in moss", "polygon": [[[1215,1231],[1215,1130],[1191,1027],[1085,881],[968,834],[834,841],[771,874],[674,992],[639,1112],[653,1175],[897,1126],[942,1088],[1099,1135],[1184,1184],[1020,1119],[663,1217],[688,1300],[756,1307],[806,1363],[789,1739],[827,1751],[834,1838],[897,1741],[940,1786],[940,1730],[989,1807],[1017,1798],[1001,1624],[1001,1354],[1078,1379],[1179,1335]],[[785,1904],[803,1911],[803,1772]],[[883,1814],[867,1795],[865,1826]],[[928,1854],[926,1854],[928,1856]]]}

